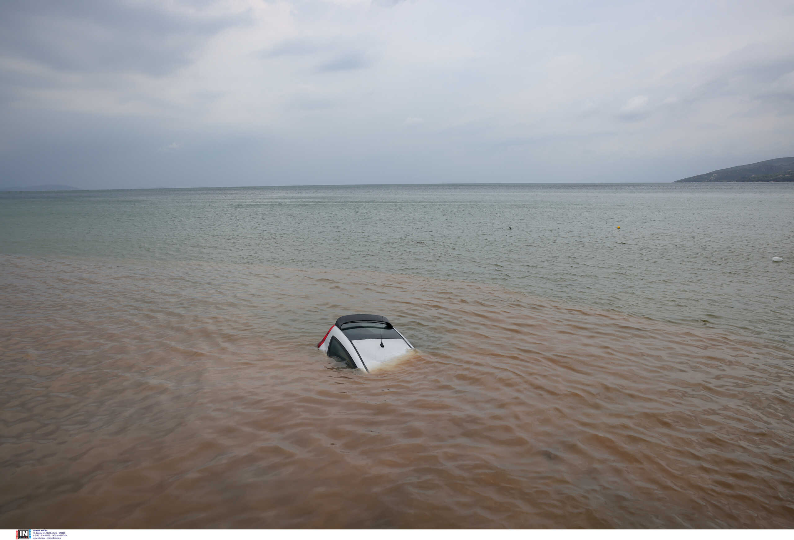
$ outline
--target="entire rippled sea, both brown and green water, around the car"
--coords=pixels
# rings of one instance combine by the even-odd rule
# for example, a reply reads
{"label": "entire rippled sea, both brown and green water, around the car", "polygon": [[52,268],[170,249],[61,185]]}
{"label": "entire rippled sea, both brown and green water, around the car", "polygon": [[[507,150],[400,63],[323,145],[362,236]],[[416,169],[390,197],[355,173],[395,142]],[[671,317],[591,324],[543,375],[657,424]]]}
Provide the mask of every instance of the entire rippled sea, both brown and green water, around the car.
{"label": "entire rippled sea, both brown and green water, around the car", "polygon": [[[794,183],[0,193],[0,523],[794,527],[792,231]],[[357,312],[418,353],[337,368]]]}

